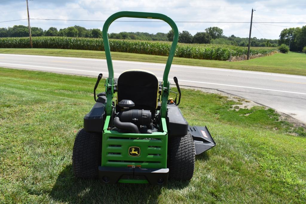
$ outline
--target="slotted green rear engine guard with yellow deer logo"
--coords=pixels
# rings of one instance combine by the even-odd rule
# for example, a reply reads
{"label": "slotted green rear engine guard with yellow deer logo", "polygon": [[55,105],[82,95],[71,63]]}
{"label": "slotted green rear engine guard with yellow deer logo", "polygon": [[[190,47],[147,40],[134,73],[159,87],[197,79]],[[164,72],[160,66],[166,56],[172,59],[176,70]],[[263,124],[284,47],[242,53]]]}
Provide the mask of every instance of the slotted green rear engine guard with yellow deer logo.
{"label": "slotted green rear engine guard with yellow deer logo", "polygon": [[104,130],[101,166],[166,168],[167,132],[127,134]]}

